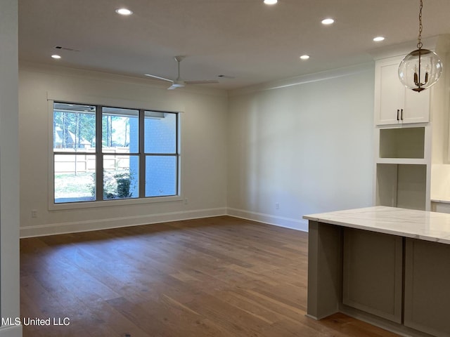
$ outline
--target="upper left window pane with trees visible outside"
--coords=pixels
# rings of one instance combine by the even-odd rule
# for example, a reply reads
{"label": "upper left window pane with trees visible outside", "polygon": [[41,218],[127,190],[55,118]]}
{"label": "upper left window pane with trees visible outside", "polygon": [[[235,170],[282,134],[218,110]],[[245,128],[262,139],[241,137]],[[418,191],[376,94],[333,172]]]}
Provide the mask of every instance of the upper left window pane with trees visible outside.
{"label": "upper left window pane with trees visible outside", "polygon": [[53,103],[54,152],[94,152],[95,140],[96,107]]}

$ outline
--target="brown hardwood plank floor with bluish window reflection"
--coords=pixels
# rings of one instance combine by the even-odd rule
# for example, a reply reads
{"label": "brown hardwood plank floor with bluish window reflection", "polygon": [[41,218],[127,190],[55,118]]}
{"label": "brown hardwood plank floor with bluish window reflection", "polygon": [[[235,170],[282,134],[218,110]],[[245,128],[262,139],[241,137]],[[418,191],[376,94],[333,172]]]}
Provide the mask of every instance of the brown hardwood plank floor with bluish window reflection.
{"label": "brown hardwood plank floor with bluish window reflection", "polygon": [[21,315],[51,318],[25,337],[397,336],[306,303],[295,230],[224,216],[20,241]]}

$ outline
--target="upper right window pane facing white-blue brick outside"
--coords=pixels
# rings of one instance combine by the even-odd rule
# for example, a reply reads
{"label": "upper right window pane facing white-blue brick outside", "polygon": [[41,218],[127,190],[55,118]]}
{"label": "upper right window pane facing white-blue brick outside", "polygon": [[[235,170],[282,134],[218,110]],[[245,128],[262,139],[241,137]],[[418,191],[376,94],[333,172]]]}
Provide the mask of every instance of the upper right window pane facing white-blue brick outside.
{"label": "upper right window pane facing white-blue brick outside", "polygon": [[176,114],[145,112],[146,153],[176,153]]}

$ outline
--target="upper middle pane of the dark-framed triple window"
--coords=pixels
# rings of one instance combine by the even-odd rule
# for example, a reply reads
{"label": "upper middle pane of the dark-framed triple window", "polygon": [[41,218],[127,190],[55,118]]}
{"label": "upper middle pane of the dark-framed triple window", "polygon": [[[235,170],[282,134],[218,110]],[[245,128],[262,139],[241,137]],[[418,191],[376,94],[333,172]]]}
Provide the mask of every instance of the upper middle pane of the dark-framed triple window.
{"label": "upper middle pane of the dark-framed triple window", "polygon": [[139,110],[103,107],[102,148],[104,152],[139,152]]}

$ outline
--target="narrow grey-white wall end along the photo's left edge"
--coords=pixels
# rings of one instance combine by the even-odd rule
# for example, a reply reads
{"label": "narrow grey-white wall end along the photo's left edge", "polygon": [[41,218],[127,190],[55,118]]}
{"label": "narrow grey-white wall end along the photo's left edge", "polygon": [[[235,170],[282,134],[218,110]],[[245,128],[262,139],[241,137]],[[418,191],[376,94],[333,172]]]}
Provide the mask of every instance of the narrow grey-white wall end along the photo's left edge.
{"label": "narrow grey-white wall end along the photo's left edge", "polygon": [[[0,11],[0,317],[19,317],[18,1]],[[22,336],[0,326],[0,336]]]}

